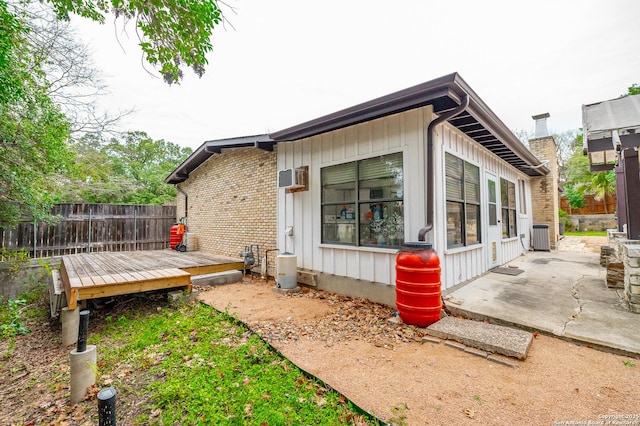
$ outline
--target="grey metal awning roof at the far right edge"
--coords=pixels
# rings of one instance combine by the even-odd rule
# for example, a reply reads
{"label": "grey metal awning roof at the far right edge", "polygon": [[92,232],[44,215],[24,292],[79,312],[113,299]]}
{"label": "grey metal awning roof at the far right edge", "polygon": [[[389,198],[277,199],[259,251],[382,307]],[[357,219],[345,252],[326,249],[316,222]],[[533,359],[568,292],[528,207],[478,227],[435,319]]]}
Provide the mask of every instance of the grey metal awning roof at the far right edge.
{"label": "grey metal awning roof at the far right edge", "polygon": [[582,129],[591,171],[613,169],[620,151],[640,146],[640,95],[583,105]]}

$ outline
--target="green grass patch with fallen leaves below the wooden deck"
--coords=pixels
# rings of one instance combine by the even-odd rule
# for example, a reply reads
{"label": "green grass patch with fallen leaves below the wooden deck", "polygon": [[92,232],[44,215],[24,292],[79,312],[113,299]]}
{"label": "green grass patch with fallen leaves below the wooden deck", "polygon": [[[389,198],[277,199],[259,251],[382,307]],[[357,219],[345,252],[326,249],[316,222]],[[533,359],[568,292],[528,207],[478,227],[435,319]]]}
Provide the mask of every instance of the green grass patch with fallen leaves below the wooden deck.
{"label": "green grass patch with fallen leaves below the wooden deck", "polygon": [[378,424],[206,305],[107,317],[90,343],[98,384],[144,401],[137,423]]}

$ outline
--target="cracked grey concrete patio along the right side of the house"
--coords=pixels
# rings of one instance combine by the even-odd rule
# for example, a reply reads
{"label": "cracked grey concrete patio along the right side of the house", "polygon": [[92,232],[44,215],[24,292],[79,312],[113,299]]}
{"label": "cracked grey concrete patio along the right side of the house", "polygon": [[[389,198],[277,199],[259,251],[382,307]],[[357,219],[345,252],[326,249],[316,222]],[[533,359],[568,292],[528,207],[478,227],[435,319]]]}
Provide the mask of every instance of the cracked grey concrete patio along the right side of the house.
{"label": "cracked grey concrete patio along the right side of the house", "polygon": [[640,357],[640,315],[629,312],[622,290],[606,286],[599,254],[578,237],[557,251],[531,251],[505,267],[518,275],[488,272],[444,292],[455,315],[488,320]]}

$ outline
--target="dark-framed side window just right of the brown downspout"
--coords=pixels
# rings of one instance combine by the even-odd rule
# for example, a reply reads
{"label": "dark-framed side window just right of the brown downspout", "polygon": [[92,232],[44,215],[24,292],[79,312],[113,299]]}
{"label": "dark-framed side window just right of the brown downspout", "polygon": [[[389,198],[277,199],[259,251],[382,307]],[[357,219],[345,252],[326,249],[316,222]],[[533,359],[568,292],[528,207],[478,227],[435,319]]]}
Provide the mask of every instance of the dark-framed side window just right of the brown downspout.
{"label": "dark-framed side window just right of the brown downspout", "polygon": [[480,169],[445,154],[447,248],[480,243]]}

